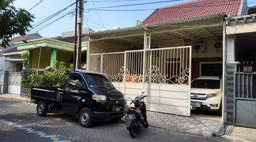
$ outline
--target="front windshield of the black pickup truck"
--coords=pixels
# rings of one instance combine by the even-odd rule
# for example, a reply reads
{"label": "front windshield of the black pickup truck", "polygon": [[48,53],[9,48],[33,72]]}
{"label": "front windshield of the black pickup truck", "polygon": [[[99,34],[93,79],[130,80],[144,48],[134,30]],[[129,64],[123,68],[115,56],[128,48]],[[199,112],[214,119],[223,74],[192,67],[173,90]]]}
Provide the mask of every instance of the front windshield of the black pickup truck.
{"label": "front windshield of the black pickup truck", "polygon": [[102,75],[85,74],[85,80],[90,88],[114,89],[110,80]]}

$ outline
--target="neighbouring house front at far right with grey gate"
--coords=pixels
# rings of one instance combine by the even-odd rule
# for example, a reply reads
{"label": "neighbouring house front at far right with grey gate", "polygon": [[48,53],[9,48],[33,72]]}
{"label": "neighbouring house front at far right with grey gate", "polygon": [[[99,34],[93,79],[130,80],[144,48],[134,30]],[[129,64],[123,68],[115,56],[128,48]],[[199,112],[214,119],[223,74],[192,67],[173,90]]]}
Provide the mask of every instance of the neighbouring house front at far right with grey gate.
{"label": "neighbouring house front at far right with grey gate", "polygon": [[228,124],[256,128],[255,13],[226,18],[225,104]]}

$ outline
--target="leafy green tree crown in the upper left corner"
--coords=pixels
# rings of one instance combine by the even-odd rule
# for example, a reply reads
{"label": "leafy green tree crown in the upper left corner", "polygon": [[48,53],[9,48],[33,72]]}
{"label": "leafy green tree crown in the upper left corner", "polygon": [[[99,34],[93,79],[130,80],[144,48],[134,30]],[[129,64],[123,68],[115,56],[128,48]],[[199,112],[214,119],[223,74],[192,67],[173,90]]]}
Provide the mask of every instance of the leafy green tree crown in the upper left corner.
{"label": "leafy green tree crown in the upper left corner", "polygon": [[13,6],[14,0],[0,0],[0,44],[6,47],[14,35],[25,35],[33,16],[25,9]]}

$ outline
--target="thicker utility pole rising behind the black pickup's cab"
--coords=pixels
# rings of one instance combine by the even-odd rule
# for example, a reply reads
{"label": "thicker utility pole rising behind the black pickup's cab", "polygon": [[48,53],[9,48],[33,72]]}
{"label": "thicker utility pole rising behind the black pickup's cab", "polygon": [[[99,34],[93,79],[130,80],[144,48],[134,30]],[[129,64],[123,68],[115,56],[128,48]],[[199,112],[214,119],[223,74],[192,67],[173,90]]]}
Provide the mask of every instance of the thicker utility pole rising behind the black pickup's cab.
{"label": "thicker utility pole rising behind the black pickup's cab", "polygon": [[83,11],[84,11],[84,0],[80,0],[79,1],[79,16],[78,16],[78,48],[76,50],[75,69],[81,68]]}

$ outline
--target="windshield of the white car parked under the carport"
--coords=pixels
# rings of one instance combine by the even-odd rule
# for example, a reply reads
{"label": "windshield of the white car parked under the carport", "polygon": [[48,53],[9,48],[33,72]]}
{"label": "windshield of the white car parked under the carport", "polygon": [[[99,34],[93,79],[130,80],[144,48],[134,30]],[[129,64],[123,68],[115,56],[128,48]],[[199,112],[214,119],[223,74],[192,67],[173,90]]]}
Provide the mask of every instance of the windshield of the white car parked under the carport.
{"label": "windshield of the white car parked under the carport", "polygon": [[191,88],[220,89],[220,80],[193,80]]}

